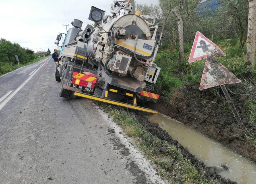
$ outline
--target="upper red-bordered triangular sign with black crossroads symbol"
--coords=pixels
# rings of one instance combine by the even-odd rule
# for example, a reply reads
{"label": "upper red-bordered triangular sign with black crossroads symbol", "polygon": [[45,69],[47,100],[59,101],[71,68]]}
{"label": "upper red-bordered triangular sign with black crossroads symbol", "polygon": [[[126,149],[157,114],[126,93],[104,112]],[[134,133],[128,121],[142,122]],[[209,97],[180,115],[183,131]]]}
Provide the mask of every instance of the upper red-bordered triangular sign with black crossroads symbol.
{"label": "upper red-bordered triangular sign with black crossroads symbol", "polygon": [[207,58],[207,56],[226,56],[216,44],[197,31],[189,56],[189,63]]}

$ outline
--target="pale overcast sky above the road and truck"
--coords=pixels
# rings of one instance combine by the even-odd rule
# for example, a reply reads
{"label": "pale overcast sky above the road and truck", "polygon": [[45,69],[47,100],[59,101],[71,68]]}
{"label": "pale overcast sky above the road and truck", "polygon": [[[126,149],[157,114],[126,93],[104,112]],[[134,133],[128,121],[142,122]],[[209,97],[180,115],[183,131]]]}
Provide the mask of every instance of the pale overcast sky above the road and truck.
{"label": "pale overcast sky above the road and truck", "polygon": [[[156,4],[157,0],[137,0],[137,3]],[[19,43],[20,46],[51,53],[57,46],[54,41],[58,32],[66,33],[63,24],[74,18],[83,21],[82,29],[88,23],[91,6],[106,11],[110,15],[113,0],[0,0],[0,38]]]}

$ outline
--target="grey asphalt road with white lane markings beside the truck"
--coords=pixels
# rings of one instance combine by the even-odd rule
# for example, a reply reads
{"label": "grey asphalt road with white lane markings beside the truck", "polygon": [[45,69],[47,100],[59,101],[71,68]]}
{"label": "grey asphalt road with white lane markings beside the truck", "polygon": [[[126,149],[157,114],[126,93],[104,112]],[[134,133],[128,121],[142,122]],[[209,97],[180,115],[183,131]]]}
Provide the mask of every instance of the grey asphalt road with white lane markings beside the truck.
{"label": "grey asphalt road with white lane markings beside the truck", "polygon": [[48,63],[0,77],[0,183],[164,183],[91,100],[59,97]]}

